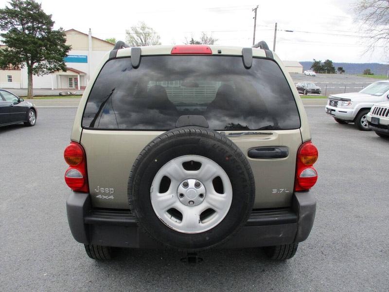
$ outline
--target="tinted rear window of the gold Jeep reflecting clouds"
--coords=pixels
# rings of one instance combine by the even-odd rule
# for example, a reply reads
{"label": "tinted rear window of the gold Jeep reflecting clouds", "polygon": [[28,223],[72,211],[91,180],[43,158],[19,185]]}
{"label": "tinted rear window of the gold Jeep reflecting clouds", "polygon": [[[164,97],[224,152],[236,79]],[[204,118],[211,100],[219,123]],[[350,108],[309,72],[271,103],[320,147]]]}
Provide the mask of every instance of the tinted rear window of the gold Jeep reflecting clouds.
{"label": "tinted rear window of the gold Jeep reflecting clouds", "polygon": [[241,57],[145,56],[108,61],[90,91],[82,126],[169,130],[182,115],[202,115],[215,130],[300,128],[289,85],[278,65]]}

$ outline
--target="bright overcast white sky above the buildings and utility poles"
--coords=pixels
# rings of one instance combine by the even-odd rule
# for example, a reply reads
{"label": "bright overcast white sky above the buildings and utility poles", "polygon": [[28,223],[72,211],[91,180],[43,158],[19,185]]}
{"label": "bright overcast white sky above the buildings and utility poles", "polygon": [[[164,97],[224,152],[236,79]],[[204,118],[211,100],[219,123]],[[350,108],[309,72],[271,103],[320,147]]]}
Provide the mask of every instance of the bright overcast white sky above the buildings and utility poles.
{"label": "bright overcast white sky above the buildings and utility poles", "polygon": [[[185,37],[212,34],[221,45],[251,46],[254,13],[259,5],[255,41],[273,47],[278,23],[276,53],[283,60],[387,63],[382,50],[366,49],[359,23],[354,21],[356,0],[223,0],[223,1],[58,1],[42,0],[53,15],[55,28],[74,28],[94,37],[125,39],[125,30],[144,21],[160,35],[162,44],[182,44]],[[0,0],[4,7],[7,1]],[[294,32],[285,32],[293,30]]]}

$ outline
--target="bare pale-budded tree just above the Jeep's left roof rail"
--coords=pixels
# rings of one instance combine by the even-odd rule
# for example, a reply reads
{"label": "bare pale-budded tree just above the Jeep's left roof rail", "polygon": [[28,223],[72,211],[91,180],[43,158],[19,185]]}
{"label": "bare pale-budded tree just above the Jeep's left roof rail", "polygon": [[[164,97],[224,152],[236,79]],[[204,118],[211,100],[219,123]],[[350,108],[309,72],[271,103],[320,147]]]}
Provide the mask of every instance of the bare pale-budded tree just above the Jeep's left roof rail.
{"label": "bare pale-budded tree just above the Jeep's left roof rail", "polygon": [[160,45],[159,34],[144,22],[125,30],[125,40],[131,47]]}

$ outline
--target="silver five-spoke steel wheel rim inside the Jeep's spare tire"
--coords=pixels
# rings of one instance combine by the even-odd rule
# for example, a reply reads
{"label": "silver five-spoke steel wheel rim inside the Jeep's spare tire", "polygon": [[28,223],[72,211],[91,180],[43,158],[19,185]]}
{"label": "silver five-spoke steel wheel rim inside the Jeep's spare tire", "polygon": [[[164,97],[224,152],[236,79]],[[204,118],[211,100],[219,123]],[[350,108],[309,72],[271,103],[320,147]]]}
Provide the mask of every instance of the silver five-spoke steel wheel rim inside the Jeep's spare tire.
{"label": "silver five-spoke steel wheel rim inside the Jeep's spare tire", "polygon": [[[183,165],[188,163],[199,168],[188,170]],[[163,192],[162,180],[170,180]],[[232,186],[219,164],[203,156],[184,155],[159,169],[150,196],[155,214],[168,227],[181,233],[201,233],[215,227],[227,215]]]}

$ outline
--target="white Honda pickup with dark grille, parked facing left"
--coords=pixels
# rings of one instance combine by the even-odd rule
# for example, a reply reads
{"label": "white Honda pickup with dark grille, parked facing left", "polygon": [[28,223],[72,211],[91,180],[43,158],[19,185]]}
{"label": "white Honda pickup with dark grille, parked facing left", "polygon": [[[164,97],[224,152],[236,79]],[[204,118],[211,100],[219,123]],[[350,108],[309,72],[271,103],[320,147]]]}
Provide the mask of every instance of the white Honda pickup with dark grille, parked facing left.
{"label": "white Honda pickup with dark grille, parked facing left", "polygon": [[388,101],[389,80],[371,83],[363,90],[328,96],[325,111],[339,124],[354,123],[361,131],[370,131],[367,114],[379,102]]}

